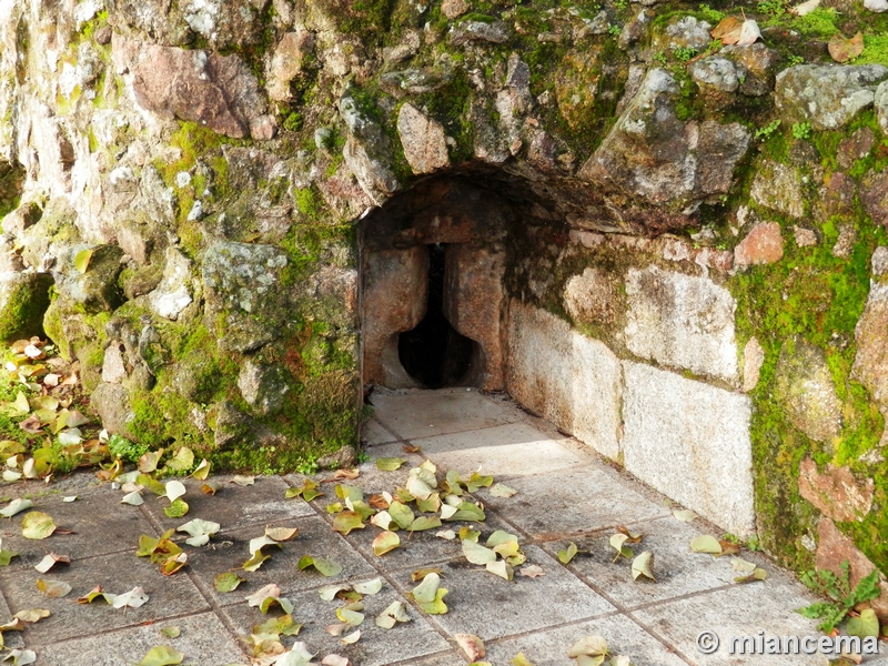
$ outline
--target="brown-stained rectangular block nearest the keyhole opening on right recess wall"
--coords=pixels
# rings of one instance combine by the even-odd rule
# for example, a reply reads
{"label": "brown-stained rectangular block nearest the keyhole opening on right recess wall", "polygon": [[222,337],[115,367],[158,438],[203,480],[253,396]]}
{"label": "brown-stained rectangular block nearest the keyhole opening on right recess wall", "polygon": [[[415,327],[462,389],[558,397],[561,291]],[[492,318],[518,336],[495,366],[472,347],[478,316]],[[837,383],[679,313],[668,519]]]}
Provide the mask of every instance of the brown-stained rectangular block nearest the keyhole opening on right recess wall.
{"label": "brown-stained rectangular block nearest the keyhole opening on right recess wall", "polygon": [[556,316],[509,304],[509,394],[612,460],[620,455],[619,360]]}

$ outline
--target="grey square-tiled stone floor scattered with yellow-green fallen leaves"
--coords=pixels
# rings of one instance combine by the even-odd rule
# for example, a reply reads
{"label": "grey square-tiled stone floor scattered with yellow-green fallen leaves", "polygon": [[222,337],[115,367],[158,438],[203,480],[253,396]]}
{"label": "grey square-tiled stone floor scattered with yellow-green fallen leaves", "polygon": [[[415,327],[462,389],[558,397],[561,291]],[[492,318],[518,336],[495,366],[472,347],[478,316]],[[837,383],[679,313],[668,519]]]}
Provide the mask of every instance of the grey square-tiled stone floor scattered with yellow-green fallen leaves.
{"label": "grey square-tiled stone floor scattered with yellow-green fallen leaves", "polygon": [[[458,539],[434,536],[436,531],[401,533],[402,547],[382,557],[373,555],[371,542],[379,533],[367,525],[343,537],[331,529],[333,516],[326,506],[336,501],[334,484],[323,484],[325,495],[312,503],[284,500],[290,486],[301,486],[299,475],[260,477],[239,487],[225,484],[214,496],[186,482],[188,517],[170,519],[165,501],[145,497],[141,507],[120,504],[121,493],[109,484],[98,486],[90,475],[63,482],[61,493],[52,486],[8,486],[7,495],[47,493],[36,498],[36,509],[53,516],[73,534],[57,534],[32,542],[21,537],[23,514],[2,524],[3,547],[20,554],[0,569],[0,613],[49,608],[52,615],[28,626],[23,634],[4,634],[8,646],[27,646],[46,666],[104,666],[135,664],[153,646],[168,644],[184,653],[184,664],[225,666],[248,664],[251,653],[242,640],[253,625],[265,619],[244,597],[265,584],[275,583],[303,624],[296,638],[304,640],[316,662],[327,654],[347,656],[354,666],[457,666],[467,659],[458,648],[457,634],[475,634],[487,647],[485,660],[508,666],[523,653],[536,666],[574,664],[567,657],[579,638],[599,635],[613,654],[630,657],[636,666],[680,664],[826,664],[821,655],[729,655],[730,636],[816,636],[816,623],[794,613],[811,597],[791,575],[765,557],[744,554],[767,569],[764,583],[738,585],[730,558],[695,554],[688,546],[697,534],[718,535],[702,521],[692,524],[673,516],[674,506],[663,496],[602,462],[578,442],[561,435],[500,396],[476,391],[376,392],[374,416],[364,428],[370,458],[361,476],[346,482],[365,495],[394,492],[405,483],[410,466],[428,457],[441,476],[456,470],[464,477],[482,466],[496,481],[515,488],[509,498],[494,497],[487,488],[475,493],[487,519],[475,524],[482,541],[496,529],[519,537],[527,565],[545,575],[516,575],[506,582],[467,563]],[[420,446],[421,454],[403,446]],[[397,472],[381,472],[375,457],[401,456],[408,464]],[[326,473],[322,476],[330,476]],[[62,495],[79,500],[63,503]],[[147,494],[148,495],[148,494]],[[140,534],[159,535],[193,517],[215,521],[221,532],[208,546],[191,548],[190,563],[170,577],[135,557]],[[261,536],[265,525],[299,527],[292,542],[254,573],[240,571],[249,557],[249,542]],[[613,562],[608,541],[617,525],[628,525],[645,535],[636,552],[655,555],[656,582],[634,581],[627,559]],[[454,529],[460,523],[447,524]],[[579,553],[568,564],[557,559],[571,542]],[[50,551],[70,555],[70,566],[41,575],[32,567]],[[342,573],[325,578],[296,566],[303,555],[323,556],[343,565]],[[448,613],[426,615],[408,597],[416,585],[411,574],[421,566],[442,571],[448,594]],[[221,594],[213,578],[238,571],[246,579],[235,592]],[[364,598],[366,620],[354,645],[342,645],[325,627],[335,624],[339,602],[323,601],[317,591],[335,582],[382,577],[382,592]],[[63,598],[47,598],[37,588],[38,578],[65,581],[72,592]],[[144,587],[150,601],[127,612],[101,603],[78,605],[74,599],[93,586],[122,593]],[[374,625],[373,617],[393,601],[407,607],[412,622],[391,630]],[[4,606],[8,606],[4,607]],[[160,630],[178,626],[178,638]],[[697,635],[714,630],[722,647],[702,654]],[[882,656],[865,657],[865,664],[888,665]]]}

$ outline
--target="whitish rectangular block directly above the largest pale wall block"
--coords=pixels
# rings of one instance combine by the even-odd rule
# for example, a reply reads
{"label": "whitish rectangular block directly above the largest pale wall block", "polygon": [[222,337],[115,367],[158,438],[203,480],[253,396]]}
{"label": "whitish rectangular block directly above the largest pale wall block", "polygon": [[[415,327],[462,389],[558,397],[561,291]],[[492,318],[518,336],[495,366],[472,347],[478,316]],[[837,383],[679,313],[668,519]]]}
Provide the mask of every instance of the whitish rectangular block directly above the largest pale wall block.
{"label": "whitish rectangular block directly above the largest pale wall block", "polygon": [[695,374],[737,380],[730,292],[707,278],[629,269],[626,346],[643,359]]}

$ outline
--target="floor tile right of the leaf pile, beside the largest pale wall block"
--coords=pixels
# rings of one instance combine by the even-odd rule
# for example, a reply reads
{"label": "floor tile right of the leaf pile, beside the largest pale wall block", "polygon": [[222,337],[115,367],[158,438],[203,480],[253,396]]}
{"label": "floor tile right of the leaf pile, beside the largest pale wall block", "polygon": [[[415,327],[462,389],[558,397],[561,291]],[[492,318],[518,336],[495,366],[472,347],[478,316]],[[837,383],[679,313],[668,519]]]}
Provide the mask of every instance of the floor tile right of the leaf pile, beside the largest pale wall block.
{"label": "floor tile right of the leaf pile, beside the largest pale wall block", "polygon": [[628,480],[594,464],[514,478],[508,485],[518,493],[502,498],[482,488],[477,495],[536,538],[554,539],[669,514],[665,503],[652,502]]}

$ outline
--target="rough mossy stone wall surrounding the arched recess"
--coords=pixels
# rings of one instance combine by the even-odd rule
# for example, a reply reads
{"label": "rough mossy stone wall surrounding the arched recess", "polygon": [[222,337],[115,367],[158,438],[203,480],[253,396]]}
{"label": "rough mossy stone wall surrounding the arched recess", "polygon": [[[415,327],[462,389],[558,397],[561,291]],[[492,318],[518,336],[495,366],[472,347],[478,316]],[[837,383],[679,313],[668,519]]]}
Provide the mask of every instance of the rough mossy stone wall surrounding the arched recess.
{"label": "rough mossy stone wall surrounding the arched recess", "polygon": [[480,383],[791,566],[886,572],[888,12],[763,3],[723,48],[728,7],[0,2],[0,330],[42,312],[110,432],[335,463],[397,371],[364,299],[418,293],[369,252],[468,243]]}

